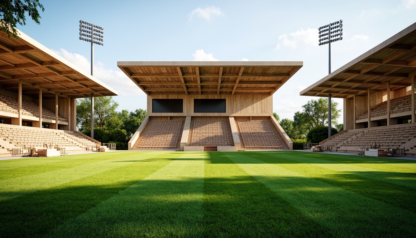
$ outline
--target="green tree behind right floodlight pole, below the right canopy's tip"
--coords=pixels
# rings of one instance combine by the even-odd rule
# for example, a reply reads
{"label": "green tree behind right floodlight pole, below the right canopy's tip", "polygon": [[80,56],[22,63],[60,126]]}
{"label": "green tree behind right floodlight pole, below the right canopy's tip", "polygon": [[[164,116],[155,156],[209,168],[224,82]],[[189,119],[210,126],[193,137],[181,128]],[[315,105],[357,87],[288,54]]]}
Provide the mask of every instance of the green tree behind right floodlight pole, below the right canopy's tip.
{"label": "green tree behind right floodlight pole, below the right canopy's tip", "polygon": [[[337,106],[337,102],[331,103],[331,122],[333,125],[337,124],[339,113],[341,112],[341,110],[337,109]],[[311,128],[328,125],[328,98],[312,99],[303,105],[302,108],[304,120]]]}

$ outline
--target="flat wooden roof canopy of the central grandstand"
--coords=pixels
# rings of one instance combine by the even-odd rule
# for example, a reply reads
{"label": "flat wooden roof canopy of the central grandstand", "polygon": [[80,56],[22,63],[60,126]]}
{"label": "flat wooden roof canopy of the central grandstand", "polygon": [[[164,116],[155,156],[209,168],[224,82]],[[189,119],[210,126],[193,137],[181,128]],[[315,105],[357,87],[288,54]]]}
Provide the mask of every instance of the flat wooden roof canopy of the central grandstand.
{"label": "flat wooden roof canopy of the central grandstand", "polygon": [[117,62],[147,95],[272,95],[303,62]]}

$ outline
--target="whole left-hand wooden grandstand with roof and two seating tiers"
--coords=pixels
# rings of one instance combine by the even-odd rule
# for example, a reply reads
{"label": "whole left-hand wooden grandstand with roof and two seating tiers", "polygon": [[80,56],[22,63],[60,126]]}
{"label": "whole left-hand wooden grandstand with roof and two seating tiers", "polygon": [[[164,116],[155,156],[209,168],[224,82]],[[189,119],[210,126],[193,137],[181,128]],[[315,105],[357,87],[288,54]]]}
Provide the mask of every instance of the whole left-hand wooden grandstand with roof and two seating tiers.
{"label": "whole left-hand wooden grandstand with roof and two seating tiers", "polygon": [[0,155],[20,148],[82,151],[99,141],[76,131],[76,98],[117,92],[29,36],[0,32]]}

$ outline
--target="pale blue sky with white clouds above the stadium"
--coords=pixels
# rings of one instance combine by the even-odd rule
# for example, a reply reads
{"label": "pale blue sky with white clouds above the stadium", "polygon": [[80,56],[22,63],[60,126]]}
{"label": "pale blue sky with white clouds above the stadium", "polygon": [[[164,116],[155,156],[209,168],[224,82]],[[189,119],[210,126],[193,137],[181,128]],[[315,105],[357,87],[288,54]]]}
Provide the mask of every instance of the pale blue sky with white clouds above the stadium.
{"label": "pale blue sky with white clouds above the stadium", "polygon": [[[273,110],[291,118],[314,97],[299,92],[328,73],[322,25],[342,19],[344,39],[332,44],[332,71],[415,22],[416,0],[360,1],[61,1],[40,0],[41,25],[19,30],[89,72],[90,45],[79,20],[104,28],[94,46],[94,76],[116,89],[118,110],[146,108],[146,95],[117,61],[303,61],[273,95]],[[342,108],[342,99],[335,99]],[[339,123],[342,123],[340,118]]]}

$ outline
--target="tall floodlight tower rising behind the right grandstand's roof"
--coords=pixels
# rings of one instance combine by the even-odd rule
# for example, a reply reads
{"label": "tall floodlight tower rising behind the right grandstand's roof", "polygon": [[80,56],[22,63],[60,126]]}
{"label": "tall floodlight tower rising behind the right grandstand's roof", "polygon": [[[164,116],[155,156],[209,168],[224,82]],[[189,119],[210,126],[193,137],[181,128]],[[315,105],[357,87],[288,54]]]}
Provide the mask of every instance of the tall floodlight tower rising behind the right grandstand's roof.
{"label": "tall floodlight tower rising behind the right grandstand's roof", "polygon": [[[331,42],[342,40],[342,20],[319,28],[319,45],[329,46],[328,74],[331,74]],[[331,93],[328,94],[328,138],[331,137]]]}

